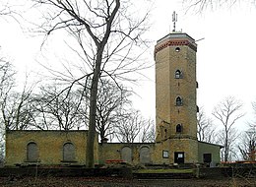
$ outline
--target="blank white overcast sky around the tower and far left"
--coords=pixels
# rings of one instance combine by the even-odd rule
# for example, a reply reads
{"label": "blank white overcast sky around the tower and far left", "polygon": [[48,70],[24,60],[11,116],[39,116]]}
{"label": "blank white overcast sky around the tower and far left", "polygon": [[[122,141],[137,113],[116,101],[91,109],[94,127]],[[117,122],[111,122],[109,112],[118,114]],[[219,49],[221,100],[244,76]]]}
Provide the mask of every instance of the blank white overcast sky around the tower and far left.
{"label": "blank white overcast sky around the tower and far left", "polygon": [[[208,11],[202,15],[185,14],[181,0],[156,0],[152,12],[153,26],[149,37],[154,41],[149,63],[154,63],[154,45],[172,30],[171,15],[178,14],[177,31],[184,31],[198,41],[197,80],[198,105],[204,106],[211,116],[212,109],[225,96],[233,95],[244,103],[246,116],[241,122],[252,120],[251,101],[256,100],[256,7],[237,5],[231,9]],[[0,20],[0,46],[20,71],[38,68],[35,58],[39,53],[40,39],[24,33],[14,21]],[[140,82],[134,90],[135,107],[147,117],[155,118],[155,69],[146,72],[149,80]]]}

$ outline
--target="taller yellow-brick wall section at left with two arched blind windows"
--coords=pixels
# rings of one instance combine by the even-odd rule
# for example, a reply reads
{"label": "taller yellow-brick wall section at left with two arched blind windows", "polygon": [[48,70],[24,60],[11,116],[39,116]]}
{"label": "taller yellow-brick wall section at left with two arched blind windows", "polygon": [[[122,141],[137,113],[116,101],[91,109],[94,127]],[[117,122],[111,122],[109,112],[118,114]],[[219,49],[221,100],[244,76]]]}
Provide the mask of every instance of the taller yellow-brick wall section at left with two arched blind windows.
{"label": "taller yellow-brick wall section at left with two arched blind windows", "polygon": [[[27,145],[35,143],[40,164],[62,164],[63,145],[72,143],[76,150],[75,164],[85,164],[87,131],[7,131],[6,165],[29,164]],[[95,158],[98,161],[96,136]]]}

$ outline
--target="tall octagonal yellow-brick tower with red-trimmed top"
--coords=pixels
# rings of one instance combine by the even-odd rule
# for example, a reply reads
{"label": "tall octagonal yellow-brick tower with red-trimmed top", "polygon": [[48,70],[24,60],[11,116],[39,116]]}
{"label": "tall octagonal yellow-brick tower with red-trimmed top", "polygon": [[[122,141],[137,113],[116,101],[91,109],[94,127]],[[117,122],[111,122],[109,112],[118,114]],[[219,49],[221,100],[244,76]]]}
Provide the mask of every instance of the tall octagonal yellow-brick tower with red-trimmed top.
{"label": "tall octagonal yellow-brick tower with red-trimmed top", "polygon": [[173,31],[155,46],[157,140],[168,162],[198,161],[195,40]]}

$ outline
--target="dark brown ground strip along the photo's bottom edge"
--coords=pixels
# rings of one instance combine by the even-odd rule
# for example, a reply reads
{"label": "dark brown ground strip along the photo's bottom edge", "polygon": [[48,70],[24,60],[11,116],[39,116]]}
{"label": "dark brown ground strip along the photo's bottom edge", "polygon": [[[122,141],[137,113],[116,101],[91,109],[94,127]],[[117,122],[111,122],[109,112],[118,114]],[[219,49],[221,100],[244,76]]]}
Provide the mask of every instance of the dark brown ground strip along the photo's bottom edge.
{"label": "dark brown ground strip along the photo's bottom edge", "polygon": [[86,177],[0,177],[0,186],[10,187],[256,187],[256,179],[121,179]]}

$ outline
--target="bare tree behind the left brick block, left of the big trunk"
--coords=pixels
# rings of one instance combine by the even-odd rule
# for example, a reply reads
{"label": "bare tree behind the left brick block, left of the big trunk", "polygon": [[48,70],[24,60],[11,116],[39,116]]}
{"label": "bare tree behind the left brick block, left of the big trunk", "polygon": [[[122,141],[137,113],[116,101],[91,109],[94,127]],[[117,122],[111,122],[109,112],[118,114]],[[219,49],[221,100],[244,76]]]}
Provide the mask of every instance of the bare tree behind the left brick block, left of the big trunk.
{"label": "bare tree behind the left brick block, left of the big trunk", "polygon": [[[40,94],[36,96],[34,107],[39,112],[36,117],[36,126],[38,128],[71,130],[79,129],[83,120],[80,92],[69,93],[68,91],[59,94],[60,85],[53,84],[51,86],[41,87]],[[84,98],[84,97],[82,97]],[[83,110],[83,114],[86,111]]]}

